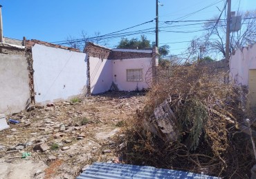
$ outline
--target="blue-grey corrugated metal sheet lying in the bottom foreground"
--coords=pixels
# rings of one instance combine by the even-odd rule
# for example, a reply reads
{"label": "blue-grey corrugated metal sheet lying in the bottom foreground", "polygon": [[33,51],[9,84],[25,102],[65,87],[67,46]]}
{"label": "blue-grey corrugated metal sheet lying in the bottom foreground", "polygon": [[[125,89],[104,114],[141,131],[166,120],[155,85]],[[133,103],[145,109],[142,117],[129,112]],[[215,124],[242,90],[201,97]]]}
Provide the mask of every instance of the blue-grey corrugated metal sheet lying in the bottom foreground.
{"label": "blue-grey corrugated metal sheet lying in the bottom foreground", "polygon": [[154,167],[122,165],[114,163],[95,162],[90,165],[77,179],[128,179],[128,178],[203,178],[217,179],[213,176],[205,176],[185,171],[175,171],[170,169],[156,169]]}

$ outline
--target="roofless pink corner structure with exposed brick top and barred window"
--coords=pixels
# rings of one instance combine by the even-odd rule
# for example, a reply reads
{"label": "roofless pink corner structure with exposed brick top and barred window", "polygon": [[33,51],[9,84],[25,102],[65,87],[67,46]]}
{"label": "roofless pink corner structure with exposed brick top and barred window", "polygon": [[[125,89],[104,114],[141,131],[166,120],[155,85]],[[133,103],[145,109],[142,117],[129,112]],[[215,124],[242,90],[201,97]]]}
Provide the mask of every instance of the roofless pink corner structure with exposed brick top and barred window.
{"label": "roofless pink corner structure with exposed brick top and barred window", "polygon": [[152,50],[109,49],[87,43],[89,92],[98,94],[114,88],[121,91],[148,89],[154,67],[158,65]]}

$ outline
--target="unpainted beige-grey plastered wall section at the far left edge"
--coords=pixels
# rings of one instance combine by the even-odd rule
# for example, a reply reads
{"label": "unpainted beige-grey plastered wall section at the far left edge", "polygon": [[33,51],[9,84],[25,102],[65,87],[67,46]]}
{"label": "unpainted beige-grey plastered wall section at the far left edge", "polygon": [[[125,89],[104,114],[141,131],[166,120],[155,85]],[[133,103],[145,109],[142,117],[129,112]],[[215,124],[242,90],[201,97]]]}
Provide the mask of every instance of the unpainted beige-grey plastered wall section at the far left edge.
{"label": "unpainted beige-grey plastered wall section at the far left edge", "polygon": [[28,63],[25,56],[0,54],[0,114],[26,109],[30,103]]}

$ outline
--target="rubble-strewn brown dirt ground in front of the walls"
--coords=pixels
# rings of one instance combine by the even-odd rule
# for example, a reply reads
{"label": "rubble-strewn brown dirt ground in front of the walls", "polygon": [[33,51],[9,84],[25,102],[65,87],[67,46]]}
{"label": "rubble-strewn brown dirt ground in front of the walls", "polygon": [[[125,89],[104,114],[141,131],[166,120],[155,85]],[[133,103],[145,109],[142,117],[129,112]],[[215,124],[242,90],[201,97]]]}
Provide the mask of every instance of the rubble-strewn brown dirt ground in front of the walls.
{"label": "rubble-strewn brown dirt ground in front of the walls", "polygon": [[[0,179],[75,178],[92,162],[117,161],[122,145],[111,139],[144,100],[142,93],[109,92],[8,116],[20,123],[0,131]],[[21,158],[26,152],[31,156]]]}

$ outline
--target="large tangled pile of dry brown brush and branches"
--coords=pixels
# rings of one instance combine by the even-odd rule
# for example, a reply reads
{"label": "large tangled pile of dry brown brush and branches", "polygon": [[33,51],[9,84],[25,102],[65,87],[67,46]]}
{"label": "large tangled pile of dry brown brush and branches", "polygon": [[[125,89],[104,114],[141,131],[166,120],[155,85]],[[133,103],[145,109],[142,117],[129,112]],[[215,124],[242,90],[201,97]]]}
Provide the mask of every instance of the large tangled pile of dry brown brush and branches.
{"label": "large tangled pile of dry brown brush and branches", "polygon": [[[223,76],[204,65],[159,70],[158,85],[148,92],[145,108],[127,126],[122,138],[127,144],[122,149],[126,162],[224,178],[249,178],[255,164],[253,149],[239,125],[253,114],[244,105],[246,90],[224,83]],[[143,125],[166,99],[180,131],[178,140],[169,143]]]}

